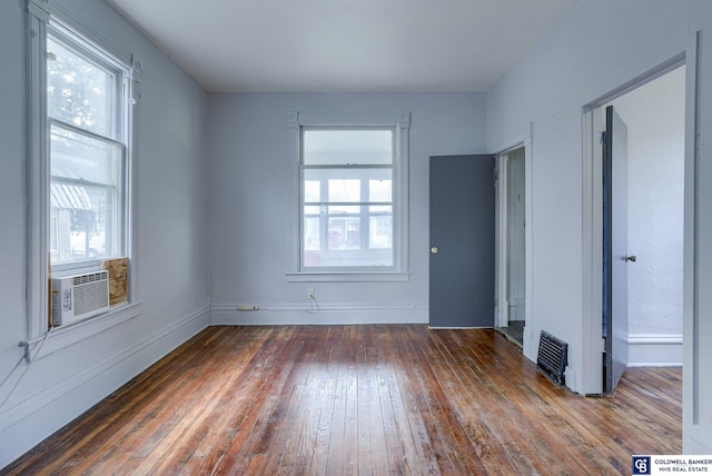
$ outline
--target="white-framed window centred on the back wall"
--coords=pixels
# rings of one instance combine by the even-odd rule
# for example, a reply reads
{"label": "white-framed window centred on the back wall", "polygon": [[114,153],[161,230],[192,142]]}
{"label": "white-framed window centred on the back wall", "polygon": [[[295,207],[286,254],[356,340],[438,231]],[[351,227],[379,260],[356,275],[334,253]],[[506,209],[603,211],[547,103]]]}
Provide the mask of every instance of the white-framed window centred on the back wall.
{"label": "white-framed window centred on the back wall", "polygon": [[294,275],[405,274],[409,113],[294,113],[295,121]]}

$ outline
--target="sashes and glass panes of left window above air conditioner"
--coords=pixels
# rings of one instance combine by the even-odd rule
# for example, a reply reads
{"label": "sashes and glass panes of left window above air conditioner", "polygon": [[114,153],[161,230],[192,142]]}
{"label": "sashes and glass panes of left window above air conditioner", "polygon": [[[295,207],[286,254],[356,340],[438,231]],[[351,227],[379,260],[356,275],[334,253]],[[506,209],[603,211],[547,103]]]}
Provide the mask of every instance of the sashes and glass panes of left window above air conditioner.
{"label": "sashes and glass panes of left window above air conditioner", "polygon": [[51,262],[122,256],[125,71],[53,29],[46,58]]}

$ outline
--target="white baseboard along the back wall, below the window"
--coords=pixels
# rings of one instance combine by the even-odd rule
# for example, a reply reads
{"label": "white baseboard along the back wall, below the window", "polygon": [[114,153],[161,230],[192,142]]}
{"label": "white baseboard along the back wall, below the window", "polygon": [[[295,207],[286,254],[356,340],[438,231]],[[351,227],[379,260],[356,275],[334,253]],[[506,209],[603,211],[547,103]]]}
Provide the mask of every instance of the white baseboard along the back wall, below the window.
{"label": "white baseboard along the back wall, below the window", "polygon": [[346,324],[427,324],[428,306],[418,305],[355,305],[314,303],[249,304],[257,310],[238,310],[238,304],[218,304],[210,308],[214,326],[274,325],[346,325]]}

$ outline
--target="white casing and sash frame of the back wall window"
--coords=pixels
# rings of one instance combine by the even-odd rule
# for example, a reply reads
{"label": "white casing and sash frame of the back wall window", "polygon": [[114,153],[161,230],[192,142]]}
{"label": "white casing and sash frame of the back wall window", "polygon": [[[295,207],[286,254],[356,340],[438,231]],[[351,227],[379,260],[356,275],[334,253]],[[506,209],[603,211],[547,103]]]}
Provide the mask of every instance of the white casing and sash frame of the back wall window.
{"label": "white casing and sash frame of the back wall window", "polygon": [[[287,272],[287,279],[290,281],[403,281],[408,279],[408,132],[411,127],[411,113],[403,112],[374,112],[374,113],[332,113],[332,112],[300,112],[291,111],[287,115],[287,132],[288,132],[288,155],[293,170],[293,249],[291,249],[291,269]],[[374,137],[380,137],[383,140],[386,132],[393,138],[393,160],[386,160],[383,156],[370,163],[350,163],[350,161],[338,160],[329,162],[329,159],[304,159],[305,135],[317,137],[318,135],[329,135],[330,132],[359,133],[365,132],[368,136],[375,132]],[[314,156],[309,156],[314,157]],[[307,160],[305,163],[304,160]],[[389,200],[384,198],[374,199],[365,197],[369,187],[379,178],[390,177],[390,197]],[[355,192],[356,198],[348,198],[347,201],[342,199],[329,198],[328,179],[334,180],[352,180],[354,187],[360,187],[360,195]],[[370,186],[369,186],[370,179]],[[309,182],[309,184],[307,184]],[[306,187],[320,186],[322,195],[317,199],[309,199],[309,192],[305,192]],[[313,190],[312,196],[315,191]],[[320,207],[320,212],[316,210]],[[340,207],[340,217],[332,215],[330,207]],[[373,208],[372,208],[373,207]],[[369,235],[369,226],[366,221],[373,224],[378,222],[377,211],[368,210],[392,210],[392,257],[387,256],[387,250],[378,250],[378,246],[372,247],[377,239],[373,229]],[[325,229],[328,219],[334,222],[353,220],[358,222],[358,227],[354,227],[354,234],[359,234],[360,238],[356,241],[354,248],[358,251],[342,250],[332,254],[350,256],[342,261],[326,260],[318,265],[310,265],[306,259],[307,248],[312,245],[305,244],[305,224],[306,212],[312,210],[309,216],[315,228],[320,230],[319,255],[325,257],[324,250],[328,248],[326,240],[330,240],[329,231]],[[352,210],[352,211],[349,211]],[[360,211],[356,211],[360,210]],[[318,216],[320,215],[320,219]],[[353,215],[353,216],[352,216]],[[373,216],[372,216],[373,215]],[[387,215],[387,214],[386,214]],[[330,218],[325,218],[325,217]],[[385,219],[386,217],[380,217]],[[320,224],[317,226],[317,221]],[[344,225],[346,226],[346,225]],[[357,229],[356,229],[357,228]],[[334,231],[334,230],[332,230]],[[383,238],[383,237],[382,237]],[[344,237],[342,237],[342,240]],[[366,245],[367,242],[367,245]],[[382,245],[383,246],[383,245]],[[369,248],[364,251],[363,247]],[[344,246],[342,247],[344,248]],[[316,249],[316,248],[315,248]],[[384,252],[380,252],[384,251]],[[368,256],[365,256],[368,255]],[[364,259],[365,265],[359,266],[358,259]]]}

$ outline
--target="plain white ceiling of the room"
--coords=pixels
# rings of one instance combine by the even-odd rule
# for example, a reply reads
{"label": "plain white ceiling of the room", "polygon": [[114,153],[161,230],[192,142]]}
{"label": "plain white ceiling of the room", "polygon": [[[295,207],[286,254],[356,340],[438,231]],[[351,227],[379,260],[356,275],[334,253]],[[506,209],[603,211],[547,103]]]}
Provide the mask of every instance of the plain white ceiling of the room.
{"label": "plain white ceiling of the room", "polygon": [[486,91],[575,0],[107,0],[209,91]]}

